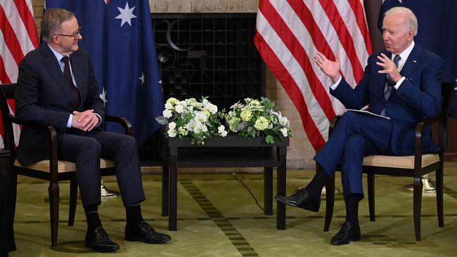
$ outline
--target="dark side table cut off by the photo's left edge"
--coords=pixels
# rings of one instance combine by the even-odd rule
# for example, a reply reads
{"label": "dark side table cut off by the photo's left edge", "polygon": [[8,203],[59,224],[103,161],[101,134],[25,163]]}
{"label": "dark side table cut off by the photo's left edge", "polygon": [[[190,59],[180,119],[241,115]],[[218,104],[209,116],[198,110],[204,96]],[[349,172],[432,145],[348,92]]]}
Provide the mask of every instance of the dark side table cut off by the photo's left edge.
{"label": "dark side table cut off by the photo's left edge", "polygon": [[11,194],[10,151],[0,150],[0,256],[16,249],[13,234],[14,206]]}

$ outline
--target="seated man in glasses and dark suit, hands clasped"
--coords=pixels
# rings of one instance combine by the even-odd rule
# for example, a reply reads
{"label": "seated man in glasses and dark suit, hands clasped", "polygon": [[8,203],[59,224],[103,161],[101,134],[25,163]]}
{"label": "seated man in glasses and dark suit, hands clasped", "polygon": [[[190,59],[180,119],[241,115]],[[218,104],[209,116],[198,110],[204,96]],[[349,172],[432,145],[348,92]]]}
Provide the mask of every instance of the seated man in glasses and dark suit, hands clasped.
{"label": "seated man in glasses and dark suit, hands clasped", "polygon": [[[53,8],[44,13],[44,44],[28,53],[19,66],[15,93],[16,117],[21,121],[50,124],[58,133],[58,158],[76,163],[76,176],[86,213],[85,245],[94,251],[115,251],[101,225],[100,158],[114,159],[127,213],[125,239],[150,244],[167,242],[141,216],[144,201],[136,140],[131,136],[101,131],[105,114],[98,95],[89,55],[78,48],[81,28],[69,11]],[[22,165],[49,158],[44,133],[24,126],[17,151]]]}

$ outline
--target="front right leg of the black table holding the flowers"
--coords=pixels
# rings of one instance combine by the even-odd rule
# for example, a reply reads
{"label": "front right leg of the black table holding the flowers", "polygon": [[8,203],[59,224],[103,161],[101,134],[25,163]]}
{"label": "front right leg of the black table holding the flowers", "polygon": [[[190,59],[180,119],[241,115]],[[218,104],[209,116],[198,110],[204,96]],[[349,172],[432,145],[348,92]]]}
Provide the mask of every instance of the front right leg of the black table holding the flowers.
{"label": "front right leg of the black table holding the flowers", "polygon": [[[276,150],[278,158],[278,178],[276,180],[277,195],[285,195],[285,179],[286,179],[286,154],[287,147],[277,147]],[[278,230],[285,230],[285,204],[276,201],[276,228]]]}

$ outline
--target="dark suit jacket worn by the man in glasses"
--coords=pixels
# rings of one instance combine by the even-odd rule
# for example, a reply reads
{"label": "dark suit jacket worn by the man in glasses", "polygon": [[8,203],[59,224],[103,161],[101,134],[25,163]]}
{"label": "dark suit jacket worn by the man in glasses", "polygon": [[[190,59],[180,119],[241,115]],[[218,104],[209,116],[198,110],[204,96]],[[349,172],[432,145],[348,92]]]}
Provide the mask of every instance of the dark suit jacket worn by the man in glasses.
{"label": "dark suit jacket worn by the man in glasses", "polygon": [[[72,72],[81,99],[77,110],[94,109],[103,120],[105,110],[98,94],[94,67],[89,54],[78,50],[70,55]],[[27,53],[19,65],[15,91],[16,117],[20,121],[39,121],[66,133],[67,121],[75,110],[72,95],[56,55],[47,44]],[[49,158],[49,138],[44,131],[22,127],[16,155],[22,165]]]}

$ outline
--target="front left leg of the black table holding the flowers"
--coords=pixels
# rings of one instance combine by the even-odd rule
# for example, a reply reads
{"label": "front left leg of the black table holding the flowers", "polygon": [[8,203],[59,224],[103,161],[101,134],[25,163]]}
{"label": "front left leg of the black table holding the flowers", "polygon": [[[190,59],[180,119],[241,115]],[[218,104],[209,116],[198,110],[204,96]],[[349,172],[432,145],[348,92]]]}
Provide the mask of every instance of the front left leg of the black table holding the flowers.
{"label": "front left leg of the black table holding the flowers", "polygon": [[170,147],[169,153],[169,217],[168,229],[178,230],[177,226],[177,206],[178,206],[178,149]]}

